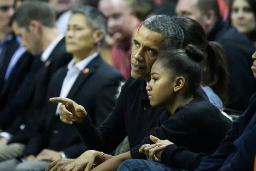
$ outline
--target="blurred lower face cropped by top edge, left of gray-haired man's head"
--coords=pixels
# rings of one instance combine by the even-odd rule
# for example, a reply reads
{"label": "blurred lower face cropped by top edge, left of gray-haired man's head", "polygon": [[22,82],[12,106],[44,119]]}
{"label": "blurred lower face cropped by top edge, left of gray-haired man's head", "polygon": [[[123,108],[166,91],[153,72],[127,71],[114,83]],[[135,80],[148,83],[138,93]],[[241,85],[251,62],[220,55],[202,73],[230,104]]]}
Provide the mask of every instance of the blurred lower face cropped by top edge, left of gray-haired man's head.
{"label": "blurred lower face cropped by top edge, left of gray-haired man's head", "polygon": [[51,6],[55,13],[63,13],[75,6],[79,5],[79,0],[49,0],[49,6]]}

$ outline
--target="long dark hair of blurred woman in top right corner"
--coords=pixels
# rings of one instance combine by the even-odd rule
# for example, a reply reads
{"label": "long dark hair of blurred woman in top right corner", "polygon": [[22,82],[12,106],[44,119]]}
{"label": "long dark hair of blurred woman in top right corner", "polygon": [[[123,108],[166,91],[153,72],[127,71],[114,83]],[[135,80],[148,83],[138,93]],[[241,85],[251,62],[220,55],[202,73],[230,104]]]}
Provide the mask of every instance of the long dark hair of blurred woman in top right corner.
{"label": "long dark hair of blurred woman in top right corner", "polygon": [[[234,1],[235,0],[230,0],[230,2],[229,2],[229,18],[228,18],[228,20],[229,20],[230,24],[232,23],[231,13],[232,13],[232,6],[234,4]],[[251,11],[254,14],[254,16],[256,17],[256,0],[246,0],[246,2],[249,3],[249,6],[251,7]],[[251,32],[246,33],[246,35],[252,41],[256,41],[256,29]]]}

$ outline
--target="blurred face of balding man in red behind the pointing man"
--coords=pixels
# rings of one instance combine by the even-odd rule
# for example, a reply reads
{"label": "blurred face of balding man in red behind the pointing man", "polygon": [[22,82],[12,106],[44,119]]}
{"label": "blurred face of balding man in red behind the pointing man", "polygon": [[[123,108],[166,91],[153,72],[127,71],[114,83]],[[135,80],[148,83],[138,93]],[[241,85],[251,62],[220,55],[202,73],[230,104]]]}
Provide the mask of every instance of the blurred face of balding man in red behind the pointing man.
{"label": "blurred face of balding man in red behind the pointing man", "polygon": [[108,34],[118,40],[128,38],[134,30],[134,15],[124,0],[101,0],[100,11],[108,18]]}

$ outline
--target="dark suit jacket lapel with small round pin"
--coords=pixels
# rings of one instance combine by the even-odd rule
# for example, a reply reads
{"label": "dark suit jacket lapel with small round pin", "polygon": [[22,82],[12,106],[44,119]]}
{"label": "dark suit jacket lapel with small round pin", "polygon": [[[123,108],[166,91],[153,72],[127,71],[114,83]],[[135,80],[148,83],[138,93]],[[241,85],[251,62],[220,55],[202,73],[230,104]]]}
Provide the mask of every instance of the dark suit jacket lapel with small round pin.
{"label": "dark suit jacket lapel with small round pin", "polygon": [[85,68],[84,70],[88,70],[88,72],[81,72],[77,79],[74,82],[74,85],[70,89],[67,98],[73,98],[75,93],[79,90],[81,84],[85,82],[90,76],[93,75],[93,73],[97,70],[97,68],[100,66],[102,63],[101,57],[98,55],[95,57]]}

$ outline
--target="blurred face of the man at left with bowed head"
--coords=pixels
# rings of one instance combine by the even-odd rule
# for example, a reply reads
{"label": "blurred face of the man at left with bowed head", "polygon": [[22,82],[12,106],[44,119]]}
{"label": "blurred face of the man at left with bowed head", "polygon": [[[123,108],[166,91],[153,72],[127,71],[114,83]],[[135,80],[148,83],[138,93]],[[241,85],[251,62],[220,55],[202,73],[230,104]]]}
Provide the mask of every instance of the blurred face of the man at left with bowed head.
{"label": "blurred face of the man at left with bowed head", "polygon": [[20,36],[21,38],[21,44],[25,48],[27,48],[27,51],[29,51],[33,55],[38,55],[42,52],[41,50],[41,42],[37,36],[37,34],[34,33],[34,29],[32,27],[29,27],[29,29],[26,29],[25,27],[20,27],[16,22],[13,22],[13,31],[17,36]]}

